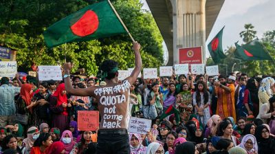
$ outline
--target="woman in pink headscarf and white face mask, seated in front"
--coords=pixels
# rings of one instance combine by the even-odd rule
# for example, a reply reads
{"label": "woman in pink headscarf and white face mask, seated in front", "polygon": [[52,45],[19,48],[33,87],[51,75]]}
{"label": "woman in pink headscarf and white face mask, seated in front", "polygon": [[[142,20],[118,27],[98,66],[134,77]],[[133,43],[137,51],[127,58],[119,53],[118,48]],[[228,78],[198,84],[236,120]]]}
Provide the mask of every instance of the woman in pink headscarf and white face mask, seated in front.
{"label": "woman in pink headscarf and white face mask, seated in front", "polygon": [[69,130],[63,131],[61,136],[61,142],[63,142],[65,146],[65,154],[69,154],[72,149],[74,148],[74,137],[72,135],[72,132]]}

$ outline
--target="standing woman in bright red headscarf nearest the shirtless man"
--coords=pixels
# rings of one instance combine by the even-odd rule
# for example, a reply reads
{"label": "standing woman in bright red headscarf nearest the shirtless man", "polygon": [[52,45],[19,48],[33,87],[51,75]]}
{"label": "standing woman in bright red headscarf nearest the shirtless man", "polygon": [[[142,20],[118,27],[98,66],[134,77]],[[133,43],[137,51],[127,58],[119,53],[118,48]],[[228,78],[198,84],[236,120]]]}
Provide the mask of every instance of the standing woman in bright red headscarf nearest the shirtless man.
{"label": "standing woman in bright red headscarf nearest the shirtless man", "polygon": [[56,88],[56,91],[50,98],[50,109],[52,111],[53,127],[57,127],[63,132],[67,128],[68,124],[68,111],[67,109],[72,107],[68,103],[66,96],[65,84],[61,83]]}

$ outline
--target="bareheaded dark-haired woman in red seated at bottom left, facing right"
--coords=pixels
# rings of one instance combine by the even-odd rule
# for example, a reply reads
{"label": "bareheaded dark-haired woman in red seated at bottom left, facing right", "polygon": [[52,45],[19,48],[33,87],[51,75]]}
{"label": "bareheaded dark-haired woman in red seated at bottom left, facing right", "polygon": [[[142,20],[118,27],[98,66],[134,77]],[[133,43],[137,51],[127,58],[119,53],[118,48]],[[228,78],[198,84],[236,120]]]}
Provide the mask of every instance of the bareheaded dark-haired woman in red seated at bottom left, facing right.
{"label": "bareheaded dark-haired woman in red seated at bottom left, facing right", "polygon": [[45,154],[46,148],[48,148],[51,144],[52,136],[50,133],[41,133],[34,141],[34,146],[32,146],[30,154]]}

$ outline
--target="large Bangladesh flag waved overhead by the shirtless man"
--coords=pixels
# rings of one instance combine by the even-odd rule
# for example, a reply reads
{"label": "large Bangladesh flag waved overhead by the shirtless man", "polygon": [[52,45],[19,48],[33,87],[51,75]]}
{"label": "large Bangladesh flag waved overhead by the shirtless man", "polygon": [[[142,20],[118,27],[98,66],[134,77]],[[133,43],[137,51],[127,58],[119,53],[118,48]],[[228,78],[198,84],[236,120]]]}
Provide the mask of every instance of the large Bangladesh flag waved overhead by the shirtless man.
{"label": "large Bangladesh flag waved overhead by the shirtless man", "polygon": [[102,1],[54,23],[45,30],[44,39],[47,47],[56,47],[63,43],[89,41],[118,34],[126,34],[126,30],[108,1]]}

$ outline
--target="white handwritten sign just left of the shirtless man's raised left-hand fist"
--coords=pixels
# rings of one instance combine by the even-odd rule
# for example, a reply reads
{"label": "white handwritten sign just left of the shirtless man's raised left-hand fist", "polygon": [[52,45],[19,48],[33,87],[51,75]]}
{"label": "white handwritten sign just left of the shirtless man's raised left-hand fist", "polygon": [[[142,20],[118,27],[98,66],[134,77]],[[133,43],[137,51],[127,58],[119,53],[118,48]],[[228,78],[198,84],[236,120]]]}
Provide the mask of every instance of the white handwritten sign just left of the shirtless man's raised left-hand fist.
{"label": "white handwritten sign just left of the shirtless man's raised left-hand fist", "polygon": [[60,66],[39,66],[39,80],[62,80]]}

